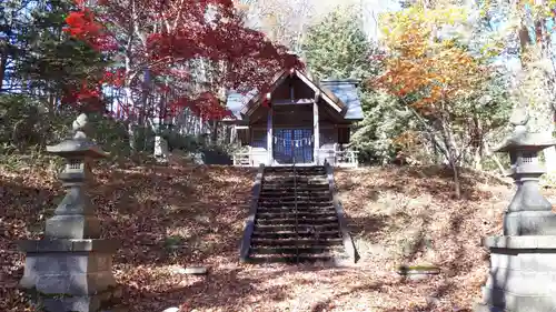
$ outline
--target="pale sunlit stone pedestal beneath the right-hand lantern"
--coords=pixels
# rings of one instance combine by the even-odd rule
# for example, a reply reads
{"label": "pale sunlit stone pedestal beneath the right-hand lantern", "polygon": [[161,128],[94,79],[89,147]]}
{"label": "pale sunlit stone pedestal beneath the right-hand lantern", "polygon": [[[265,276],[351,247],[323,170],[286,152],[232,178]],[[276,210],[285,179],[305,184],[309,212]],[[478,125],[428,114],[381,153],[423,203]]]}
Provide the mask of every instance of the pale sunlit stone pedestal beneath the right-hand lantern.
{"label": "pale sunlit stone pedestal beneath the right-hand lantern", "polygon": [[490,236],[490,272],[475,312],[554,312],[556,236]]}

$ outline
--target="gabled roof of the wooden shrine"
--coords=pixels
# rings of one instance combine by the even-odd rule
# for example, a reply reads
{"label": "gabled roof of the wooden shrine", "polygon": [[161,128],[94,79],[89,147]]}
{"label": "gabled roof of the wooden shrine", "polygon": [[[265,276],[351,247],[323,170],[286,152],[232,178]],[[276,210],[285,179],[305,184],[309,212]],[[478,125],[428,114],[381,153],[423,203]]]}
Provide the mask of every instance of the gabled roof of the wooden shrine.
{"label": "gabled roof of the wooden shrine", "polygon": [[[260,104],[264,94],[274,92],[289,74],[290,71],[288,70],[278,72],[268,90],[262,93],[257,93],[256,91],[251,91],[247,94],[229,92],[226,107],[231,111],[234,117],[241,120],[248,111],[252,111]],[[338,113],[342,114],[346,120],[363,120],[363,109],[357,92],[358,81],[328,80],[317,83],[298,70],[291,71],[291,74],[296,74],[309,88],[318,92],[320,97],[338,111]]]}

